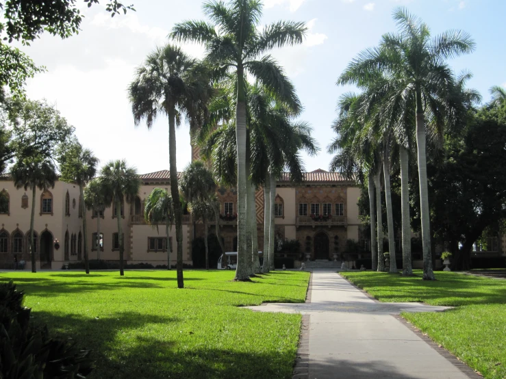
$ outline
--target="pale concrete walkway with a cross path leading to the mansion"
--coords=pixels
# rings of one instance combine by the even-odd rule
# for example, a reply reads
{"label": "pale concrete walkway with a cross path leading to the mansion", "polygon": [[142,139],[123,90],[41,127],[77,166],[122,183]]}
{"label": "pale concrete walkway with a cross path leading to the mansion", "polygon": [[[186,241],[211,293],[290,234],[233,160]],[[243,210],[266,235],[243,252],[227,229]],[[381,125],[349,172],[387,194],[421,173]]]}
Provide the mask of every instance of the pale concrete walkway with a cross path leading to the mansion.
{"label": "pale concrete walkway with a cross path leading to the mansion", "polygon": [[248,308],[309,315],[309,364],[297,378],[479,378],[459,369],[394,316],[448,307],[380,303],[335,271],[313,272],[309,303]]}

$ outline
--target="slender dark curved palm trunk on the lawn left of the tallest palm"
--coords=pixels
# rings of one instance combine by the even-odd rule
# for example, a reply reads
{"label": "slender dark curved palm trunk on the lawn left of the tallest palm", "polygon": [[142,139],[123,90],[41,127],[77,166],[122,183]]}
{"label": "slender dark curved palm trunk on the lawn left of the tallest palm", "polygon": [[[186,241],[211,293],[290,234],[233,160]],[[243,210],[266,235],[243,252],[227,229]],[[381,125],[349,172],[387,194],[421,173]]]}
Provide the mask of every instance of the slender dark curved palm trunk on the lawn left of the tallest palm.
{"label": "slender dark curved palm trunk on the lawn left of the tallest palm", "polygon": [[176,164],[176,114],[174,105],[168,109],[168,157],[170,170],[170,196],[173,200],[174,221],[176,224],[177,242],[177,288],[184,288],[183,278],[183,209],[179,200],[179,188],[177,187],[177,164]]}

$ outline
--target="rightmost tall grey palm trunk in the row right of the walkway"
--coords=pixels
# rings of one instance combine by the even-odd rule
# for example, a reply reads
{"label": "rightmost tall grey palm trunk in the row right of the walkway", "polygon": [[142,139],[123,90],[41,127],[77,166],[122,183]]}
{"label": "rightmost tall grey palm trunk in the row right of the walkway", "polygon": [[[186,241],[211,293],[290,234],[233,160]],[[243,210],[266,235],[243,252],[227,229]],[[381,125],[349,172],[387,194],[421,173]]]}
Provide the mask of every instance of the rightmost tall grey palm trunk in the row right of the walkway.
{"label": "rightmost tall grey palm trunk in the row right of the walkway", "polygon": [[422,224],[423,279],[435,280],[431,256],[431,219],[429,214],[429,187],[427,185],[427,153],[425,150],[425,116],[422,94],[416,89],[416,150],[418,155],[418,181],[420,182],[420,219]]}

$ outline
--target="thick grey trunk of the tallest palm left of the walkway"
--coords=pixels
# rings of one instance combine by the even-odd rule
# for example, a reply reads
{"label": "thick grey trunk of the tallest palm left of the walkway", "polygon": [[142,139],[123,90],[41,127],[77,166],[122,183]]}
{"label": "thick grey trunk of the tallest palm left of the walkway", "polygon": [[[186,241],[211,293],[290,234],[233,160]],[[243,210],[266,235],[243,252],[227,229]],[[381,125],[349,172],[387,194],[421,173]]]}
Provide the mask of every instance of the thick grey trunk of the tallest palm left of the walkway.
{"label": "thick grey trunk of the tallest palm left of the walkway", "polygon": [[249,280],[248,257],[250,256],[246,239],[246,96],[244,94],[244,68],[238,65],[238,86],[236,102],[236,144],[237,144],[237,202],[238,202],[238,244],[237,269],[234,280]]}

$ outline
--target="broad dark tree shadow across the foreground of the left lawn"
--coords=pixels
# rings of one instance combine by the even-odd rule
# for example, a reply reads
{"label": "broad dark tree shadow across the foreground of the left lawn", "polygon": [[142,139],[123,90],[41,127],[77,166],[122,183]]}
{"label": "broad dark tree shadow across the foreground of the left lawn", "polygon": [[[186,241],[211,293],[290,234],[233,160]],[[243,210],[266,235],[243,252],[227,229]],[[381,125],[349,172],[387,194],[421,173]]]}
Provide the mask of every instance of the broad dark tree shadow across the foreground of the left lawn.
{"label": "broad dark tree shadow across the foreground of the left lawn", "polygon": [[[127,330],[147,324],[172,324],[175,317],[135,312],[113,313],[93,319],[79,315],[33,312],[35,322],[47,323],[53,335],[76,341],[79,348],[91,349],[97,368],[88,379],[114,378],[291,378],[295,351],[277,346],[255,348],[255,342],[234,350],[207,346],[187,348],[177,340],[133,335],[127,343],[118,340]],[[195,338],[199,338],[195,336]],[[252,352],[249,352],[249,351]],[[261,350],[261,352],[259,352]]]}

